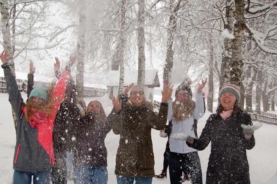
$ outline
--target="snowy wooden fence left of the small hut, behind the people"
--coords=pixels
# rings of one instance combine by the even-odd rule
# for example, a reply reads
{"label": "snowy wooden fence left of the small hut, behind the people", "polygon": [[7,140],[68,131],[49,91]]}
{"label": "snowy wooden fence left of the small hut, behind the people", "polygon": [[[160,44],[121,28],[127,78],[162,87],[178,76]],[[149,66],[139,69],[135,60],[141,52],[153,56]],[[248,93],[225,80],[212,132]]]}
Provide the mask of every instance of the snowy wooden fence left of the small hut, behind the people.
{"label": "snowy wooden fence left of the small hut, behind the people", "polygon": [[[27,80],[16,79],[16,82],[18,89],[27,93]],[[42,83],[47,86],[50,85],[50,82],[34,81],[34,84],[38,83]],[[0,77],[0,93],[7,93],[5,77]],[[104,96],[106,93],[107,89],[105,88],[84,87],[84,97]]]}

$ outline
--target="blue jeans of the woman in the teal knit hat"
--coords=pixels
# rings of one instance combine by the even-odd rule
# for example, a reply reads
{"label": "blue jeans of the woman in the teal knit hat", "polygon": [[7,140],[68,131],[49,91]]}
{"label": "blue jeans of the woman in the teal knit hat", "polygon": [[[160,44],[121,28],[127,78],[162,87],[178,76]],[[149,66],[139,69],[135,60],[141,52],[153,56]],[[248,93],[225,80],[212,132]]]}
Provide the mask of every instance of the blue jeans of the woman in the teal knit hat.
{"label": "blue jeans of the woman in the teal knit hat", "polygon": [[51,171],[40,171],[36,173],[28,173],[23,171],[14,170],[14,184],[46,184],[51,181]]}

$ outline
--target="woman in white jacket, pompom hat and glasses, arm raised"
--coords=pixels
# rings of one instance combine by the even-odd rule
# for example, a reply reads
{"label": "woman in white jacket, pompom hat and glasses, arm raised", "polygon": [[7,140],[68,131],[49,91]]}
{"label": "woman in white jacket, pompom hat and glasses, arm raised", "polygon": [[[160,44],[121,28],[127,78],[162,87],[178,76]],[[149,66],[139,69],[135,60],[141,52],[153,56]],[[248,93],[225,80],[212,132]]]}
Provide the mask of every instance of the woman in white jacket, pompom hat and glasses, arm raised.
{"label": "woman in white jacket, pompom hat and glasses, arm raised", "polygon": [[[191,80],[186,78],[175,92],[175,101],[168,101],[167,119],[172,120],[171,135],[187,133],[195,137],[193,128],[194,120],[199,120],[205,113],[202,89],[207,79],[196,93],[195,101],[192,100]],[[169,138],[169,176],[171,184],[182,183],[183,169],[190,174],[192,184],[202,184],[202,171],[196,149],[187,146],[186,141]]]}

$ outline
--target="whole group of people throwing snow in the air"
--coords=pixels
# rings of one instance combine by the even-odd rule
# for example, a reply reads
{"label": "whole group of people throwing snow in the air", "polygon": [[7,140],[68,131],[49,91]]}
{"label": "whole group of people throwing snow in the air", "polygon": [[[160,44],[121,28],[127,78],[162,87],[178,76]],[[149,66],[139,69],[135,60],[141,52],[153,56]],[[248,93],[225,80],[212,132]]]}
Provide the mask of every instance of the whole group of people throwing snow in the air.
{"label": "whole group of people throwing snow in the air", "polygon": [[[3,51],[0,58],[9,101],[17,117],[14,184],[29,184],[32,176],[34,184],[66,183],[67,150],[74,153],[74,183],[106,184],[104,140],[111,130],[120,135],[115,166],[117,183],[152,183],[155,163],[151,129],[164,131],[169,136],[165,155],[172,184],[182,182],[183,172],[189,175],[191,183],[202,184],[197,150],[205,149],[210,142],[206,183],[250,183],[246,149],[254,147],[253,134],[259,127],[252,125],[250,115],[239,107],[240,92],[234,84],[221,88],[216,113],[209,117],[198,138],[196,127],[205,113],[202,89],[207,79],[199,85],[195,101],[190,79],[177,87],[175,100],[171,98],[172,86],[164,83],[159,113],[153,111],[153,104],[145,99],[143,89],[130,84],[122,94],[112,98],[114,108],[106,116],[99,101],[91,101],[86,106],[77,99],[70,75],[75,55],[70,56],[63,72],[59,71],[56,58],[54,71],[58,79],[49,87],[33,85],[35,68],[30,63],[26,103],[7,56]],[[166,125],[167,120],[171,122],[170,127]],[[167,166],[162,176],[166,176],[166,170]]]}

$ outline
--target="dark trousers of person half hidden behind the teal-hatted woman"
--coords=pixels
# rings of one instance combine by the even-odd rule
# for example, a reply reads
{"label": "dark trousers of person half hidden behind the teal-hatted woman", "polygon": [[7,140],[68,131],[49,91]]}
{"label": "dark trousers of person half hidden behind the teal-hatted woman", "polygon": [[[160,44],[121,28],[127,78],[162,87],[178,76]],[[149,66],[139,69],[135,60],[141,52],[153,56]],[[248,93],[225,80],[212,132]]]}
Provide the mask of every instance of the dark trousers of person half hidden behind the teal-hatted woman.
{"label": "dark trousers of person half hidden behind the teal-hatted woman", "polygon": [[51,181],[52,184],[66,184],[67,170],[66,170],[66,151],[56,154],[55,162],[58,162],[58,167],[52,167]]}

